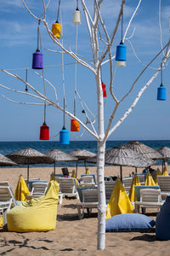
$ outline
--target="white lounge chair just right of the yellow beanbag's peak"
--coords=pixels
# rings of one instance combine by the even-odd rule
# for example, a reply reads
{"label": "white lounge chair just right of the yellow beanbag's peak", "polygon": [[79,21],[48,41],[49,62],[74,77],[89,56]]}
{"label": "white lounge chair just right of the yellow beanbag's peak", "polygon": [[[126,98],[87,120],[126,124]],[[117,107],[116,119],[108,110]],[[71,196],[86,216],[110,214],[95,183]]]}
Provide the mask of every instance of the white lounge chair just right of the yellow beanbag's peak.
{"label": "white lounge chair just right of the yellow beanbag's peak", "polygon": [[59,189],[63,196],[75,196],[79,199],[74,177],[59,177]]}

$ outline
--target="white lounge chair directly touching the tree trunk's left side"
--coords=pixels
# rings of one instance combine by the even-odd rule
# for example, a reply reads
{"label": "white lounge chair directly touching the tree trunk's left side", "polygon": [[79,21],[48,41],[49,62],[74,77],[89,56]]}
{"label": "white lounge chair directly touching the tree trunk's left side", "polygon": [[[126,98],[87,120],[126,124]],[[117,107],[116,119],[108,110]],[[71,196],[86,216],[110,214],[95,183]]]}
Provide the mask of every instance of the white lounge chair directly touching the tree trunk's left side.
{"label": "white lounge chair directly touching the tree trunk's left side", "polygon": [[89,214],[93,208],[98,207],[98,204],[98,189],[83,189],[82,202],[77,203],[78,218],[83,218],[85,208]]}

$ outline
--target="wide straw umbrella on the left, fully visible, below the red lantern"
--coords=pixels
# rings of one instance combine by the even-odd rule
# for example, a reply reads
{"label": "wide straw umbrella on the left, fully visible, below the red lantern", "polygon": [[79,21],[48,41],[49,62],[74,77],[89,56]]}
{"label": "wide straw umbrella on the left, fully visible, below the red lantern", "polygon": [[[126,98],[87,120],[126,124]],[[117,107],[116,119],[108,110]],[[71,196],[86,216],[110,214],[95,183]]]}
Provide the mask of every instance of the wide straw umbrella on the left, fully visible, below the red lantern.
{"label": "wide straw umbrella on the left, fully visible, below the red lantern", "polygon": [[14,160],[17,164],[27,165],[27,183],[29,183],[29,166],[35,164],[53,164],[54,159],[46,154],[33,149],[23,148],[14,153],[8,154],[8,158]]}

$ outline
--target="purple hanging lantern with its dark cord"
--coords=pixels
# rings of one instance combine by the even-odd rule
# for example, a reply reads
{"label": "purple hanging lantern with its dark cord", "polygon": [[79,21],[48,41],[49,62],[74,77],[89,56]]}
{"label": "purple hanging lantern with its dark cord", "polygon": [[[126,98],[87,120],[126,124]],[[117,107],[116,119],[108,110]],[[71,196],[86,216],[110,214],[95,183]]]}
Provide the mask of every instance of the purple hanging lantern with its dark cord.
{"label": "purple hanging lantern with its dark cord", "polygon": [[42,69],[43,68],[42,52],[39,49],[39,38],[40,38],[40,20],[38,20],[38,26],[37,26],[37,50],[32,55],[32,68],[33,69]]}

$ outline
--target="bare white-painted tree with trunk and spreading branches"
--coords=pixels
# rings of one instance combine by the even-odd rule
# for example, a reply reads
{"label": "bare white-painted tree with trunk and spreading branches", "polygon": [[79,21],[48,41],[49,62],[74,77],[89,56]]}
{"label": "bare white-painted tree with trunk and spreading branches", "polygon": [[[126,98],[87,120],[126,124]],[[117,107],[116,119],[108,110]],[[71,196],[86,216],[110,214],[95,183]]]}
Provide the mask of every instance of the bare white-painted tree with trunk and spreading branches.
{"label": "bare white-painted tree with trunk and spreading branches", "polygon": [[[59,108],[61,111],[65,111],[65,114],[67,114],[71,118],[76,119],[79,122],[79,124],[82,125],[82,127],[84,127],[84,129],[86,129],[86,131],[88,131],[97,140],[97,143],[98,143],[97,181],[98,181],[98,195],[99,195],[98,245],[97,245],[97,248],[99,250],[105,250],[105,210],[106,210],[106,207],[105,207],[105,182],[104,182],[105,142],[108,139],[108,137],[110,137],[111,134],[114,131],[116,131],[116,128],[119,125],[122,124],[122,121],[127,118],[129,113],[132,112],[133,108],[135,107],[135,105],[139,101],[139,98],[144,93],[144,90],[146,90],[150,86],[150,84],[153,82],[153,80],[156,79],[156,76],[160,72],[161,67],[163,67],[167,63],[167,60],[168,60],[169,54],[170,54],[170,50],[169,50],[170,41],[168,41],[167,44],[164,47],[162,47],[160,52],[158,52],[156,54],[156,56],[150,61],[149,64],[145,65],[142,72],[139,73],[139,76],[136,79],[134,79],[131,88],[127,91],[127,93],[124,96],[122,96],[121,99],[118,100],[115,93],[114,93],[114,90],[113,90],[114,73],[113,73],[112,61],[113,61],[113,59],[115,59],[115,55],[112,55],[111,51],[112,51],[112,44],[113,44],[114,39],[116,37],[116,32],[117,32],[120,20],[122,19],[123,6],[124,6],[124,3],[126,2],[126,0],[122,0],[120,10],[117,14],[116,24],[115,24],[115,27],[113,28],[111,33],[109,33],[107,31],[107,28],[105,26],[105,22],[102,19],[102,15],[101,15],[101,11],[100,11],[101,10],[101,5],[102,5],[103,2],[105,2],[105,0],[94,0],[93,17],[92,17],[92,15],[90,14],[90,12],[88,10],[86,0],[81,0],[82,9],[83,9],[83,13],[84,13],[85,20],[86,20],[86,23],[87,23],[88,34],[89,34],[89,38],[90,38],[90,42],[91,42],[91,50],[92,50],[92,55],[93,55],[93,61],[92,62],[86,61],[86,58],[83,58],[82,56],[77,55],[77,53],[74,53],[71,49],[66,49],[64,44],[62,44],[62,42],[60,42],[58,38],[54,37],[54,34],[49,29],[48,22],[47,22],[47,19],[46,19],[46,9],[48,7],[48,4],[46,6],[44,0],[42,0],[43,10],[42,10],[42,15],[40,17],[37,17],[36,15],[34,15],[31,12],[31,10],[27,7],[26,2],[24,0],[21,0],[21,1],[24,4],[24,6],[26,7],[27,11],[30,13],[30,15],[34,19],[41,20],[42,24],[47,29],[48,36],[62,50],[61,53],[65,53],[67,55],[70,55],[75,61],[80,63],[83,67],[87,67],[92,73],[94,73],[94,77],[95,77],[95,81],[96,81],[96,88],[97,88],[98,129],[97,129],[97,131],[95,130],[94,125],[93,125],[92,122],[90,122],[91,127],[89,128],[87,124],[84,124],[82,122],[82,120],[78,119],[77,116],[74,116],[73,113],[71,113],[68,110],[65,110],[64,108],[61,108],[59,106],[58,96],[57,96],[57,92],[54,88],[54,85],[50,84],[50,82],[47,79],[46,79],[46,81],[48,82],[48,84],[50,86],[52,86],[52,88],[54,89],[56,102],[52,101],[50,98],[48,98],[47,96],[40,93],[31,84],[27,83],[24,79],[21,79],[19,75],[8,72],[8,71],[5,71],[5,70],[3,70],[4,73],[7,73],[9,76],[13,77],[14,79],[19,79],[20,81],[25,83],[31,89],[32,92],[31,93],[30,92],[26,93],[26,92],[19,91],[19,90],[13,90],[13,89],[8,88],[7,86],[5,86],[3,84],[0,84],[0,86],[7,89],[7,90],[13,91],[13,92],[17,92],[17,93],[20,93],[20,94],[26,94],[26,95],[32,96],[32,97],[34,97],[38,100],[42,100],[43,102],[46,102],[49,106],[53,106],[54,108]],[[126,29],[126,31],[123,35],[123,38],[122,38],[123,42],[127,37],[127,31],[128,31],[128,29],[131,25],[131,22],[133,20],[134,15],[136,14],[137,10],[139,9],[140,3],[141,3],[141,0],[139,0],[139,3],[137,5],[136,9],[133,11],[133,15],[132,15],[131,19],[129,20],[128,24],[127,24],[127,29]],[[128,38],[128,40],[129,40],[129,38]],[[99,49],[99,45],[100,45],[99,42],[103,42],[103,45],[104,45],[103,49]],[[133,91],[134,85],[137,83],[137,81],[140,79],[140,77],[144,74],[146,69],[148,67],[150,67],[150,64],[153,61],[156,60],[157,56],[160,55],[163,50],[165,50],[165,54],[164,54],[164,56],[161,60],[160,67],[156,68],[155,73],[148,79],[147,83],[144,84],[143,88],[141,88],[139,90],[139,93],[137,94],[137,96],[136,96],[135,100],[133,101],[132,105],[124,112],[124,114],[122,115],[122,118],[119,119],[116,122],[115,125],[112,125],[112,122],[113,122],[113,119],[115,117],[116,111],[119,108],[121,102],[123,102],[127,98],[127,96],[129,96],[129,94]],[[99,54],[99,53],[102,53],[102,54]],[[102,84],[101,84],[101,73],[100,73],[101,72],[100,68],[103,65],[105,65],[105,63],[109,63],[109,65],[110,65],[110,93],[111,93],[111,97],[112,97],[113,102],[115,102],[114,108],[111,109],[111,117],[110,117],[109,122],[108,122],[107,125],[105,125],[105,114],[104,114],[105,106],[104,106],[103,90],[102,90]],[[10,99],[8,99],[8,100],[10,100]],[[15,102],[13,100],[10,100],[10,101]],[[18,103],[26,104],[26,102],[18,102]],[[37,104],[38,105],[39,103],[30,103],[30,104]]]}

